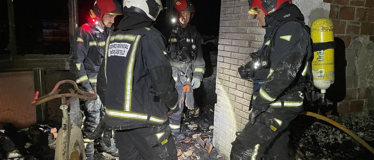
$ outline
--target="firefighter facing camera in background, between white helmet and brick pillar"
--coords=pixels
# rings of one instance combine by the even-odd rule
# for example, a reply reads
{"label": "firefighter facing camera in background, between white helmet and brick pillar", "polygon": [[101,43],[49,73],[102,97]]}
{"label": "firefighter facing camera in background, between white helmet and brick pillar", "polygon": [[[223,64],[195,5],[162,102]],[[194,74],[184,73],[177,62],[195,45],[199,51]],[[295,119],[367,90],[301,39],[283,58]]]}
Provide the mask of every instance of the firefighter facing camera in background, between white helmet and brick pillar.
{"label": "firefighter facing camera in background, between white helmet and brick pillar", "polygon": [[174,3],[177,13],[177,24],[170,31],[168,40],[168,58],[173,69],[175,88],[178,91],[177,113],[172,114],[170,128],[176,140],[183,140],[184,134],[180,131],[181,114],[184,104],[188,109],[194,109],[193,89],[200,86],[205,72],[205,61],[201,48],[201,36],[196,28],[189,24],[195,8],[190,0],[177,0]]}

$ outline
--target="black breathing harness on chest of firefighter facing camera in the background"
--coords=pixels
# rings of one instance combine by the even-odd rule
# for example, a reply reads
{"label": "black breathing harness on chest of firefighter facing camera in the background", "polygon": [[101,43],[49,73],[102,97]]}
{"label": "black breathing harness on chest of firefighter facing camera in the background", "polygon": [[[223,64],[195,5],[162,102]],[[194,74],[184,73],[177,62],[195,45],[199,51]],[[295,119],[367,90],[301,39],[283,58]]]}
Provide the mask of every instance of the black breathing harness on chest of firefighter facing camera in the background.
{"label": "black breathing harness on chest of firefighter facing camera in the background", "polygon": [[[191,43],[191,46],[187,45],[187,46],[183,46],[180,44],[181,41],[183,40],[186,40],[188,39],[187,35],[186,35],[186,29],[188,29],[189,33],[190,33],[190,43]],[[176,39],[177,42],[173,42],[173,39]],[[196,40],[196,32],[193,31],[191,29],[191,27],[186,27],[186,28],[180,28],[180,27],[177,27],[175,30],[171,30],[171,33],[170,33],[170,44],[168,46],[168,49],[167,49],[167,52],[170,56],[171,59],[173,59],[174,61],[178,61],[178,63],[181,63],[183,64],[181,68],[184,68],[186,67],[186,73],[184,73],[183,71],[181,71],[179,68],[180,67],[177,67],[179,72],[180,72],[180,81],[182,83],[186,82],[188,77],[192,77],[192,75],[188,75],[187,76],[187,70],[188,68],[191,67],[191,65],[193,64],[193,61],[194,61],[194,56],[195,56],[195,51],[197,49],[196,47],[196,44],[195,44],[195,40]],[[171,48],[171,46],[173,45],[172,43],[177,43],[175,45],[175,51],[173,51]],[[188,41],[187,41],[188,43]],[[192,74],[192,73],[190,73]]]}

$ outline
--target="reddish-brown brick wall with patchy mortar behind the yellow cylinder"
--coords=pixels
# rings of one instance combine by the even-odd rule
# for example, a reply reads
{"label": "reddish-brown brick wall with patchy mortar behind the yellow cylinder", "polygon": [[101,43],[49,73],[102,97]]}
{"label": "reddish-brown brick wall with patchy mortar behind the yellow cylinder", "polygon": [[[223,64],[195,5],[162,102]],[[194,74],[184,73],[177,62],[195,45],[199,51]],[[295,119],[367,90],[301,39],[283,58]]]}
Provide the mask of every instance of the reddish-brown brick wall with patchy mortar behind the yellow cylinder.
{"label": "reddish-brown brick wall with patchy mortar behind the yellow cylinder", "polygon": [[[360,75],[357,74],[357,64],[361,63],[358,55],[363,54],[365,50],[351,44],[362,35],[369,36],[371,41],[374,40],[374,0],[324,2],[331,3],[329,18],[334,23],[335,37],[342,39],[347,48],[346,98],[338,103],[338,111],[340,114],[366,111],[366,114],[373,115],[373,86],[359,84]],[[373,50],[366,54],[373,54],[372,52]]]}

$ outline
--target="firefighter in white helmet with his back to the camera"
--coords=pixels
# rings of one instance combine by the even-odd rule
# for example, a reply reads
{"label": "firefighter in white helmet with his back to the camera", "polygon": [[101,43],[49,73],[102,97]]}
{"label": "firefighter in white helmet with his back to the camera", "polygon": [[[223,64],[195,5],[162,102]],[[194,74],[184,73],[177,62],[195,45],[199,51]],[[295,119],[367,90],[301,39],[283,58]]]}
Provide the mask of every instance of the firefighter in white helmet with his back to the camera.
{"label": "firefighter in white helmet with his back to the camera", "polygon": [[98,95],[105,117],[91,135],[110,145],[116,130],[120,160],[177,160],[167,108],[178,110],[172,69],[162,34],[152,26],[160,0],[125,0],[119,30],[105,43]]}

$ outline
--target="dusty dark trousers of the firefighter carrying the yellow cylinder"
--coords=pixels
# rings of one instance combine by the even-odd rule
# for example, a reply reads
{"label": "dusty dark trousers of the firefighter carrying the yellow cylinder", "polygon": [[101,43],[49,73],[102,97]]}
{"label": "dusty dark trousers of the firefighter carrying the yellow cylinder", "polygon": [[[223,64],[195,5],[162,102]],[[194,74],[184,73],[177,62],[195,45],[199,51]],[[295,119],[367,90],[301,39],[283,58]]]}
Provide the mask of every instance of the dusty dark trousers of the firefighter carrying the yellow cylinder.
{"label": "dusty dark trousers of the firefighter carrying the yellow cylinder", "polygon": [[[297,108],[297,109],[296,109]],[[300,110],[301,107],[295,107]],[[249,121],[233,141],[230,160],[288,160],[289,123],[297,114],[287,107],[261,113],[256,122]]]}

